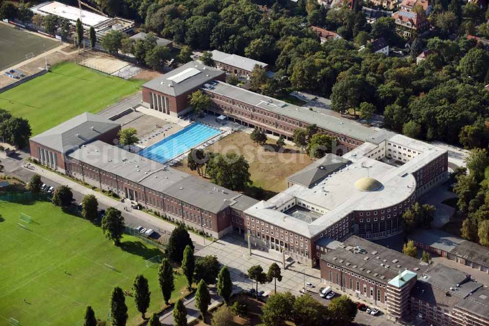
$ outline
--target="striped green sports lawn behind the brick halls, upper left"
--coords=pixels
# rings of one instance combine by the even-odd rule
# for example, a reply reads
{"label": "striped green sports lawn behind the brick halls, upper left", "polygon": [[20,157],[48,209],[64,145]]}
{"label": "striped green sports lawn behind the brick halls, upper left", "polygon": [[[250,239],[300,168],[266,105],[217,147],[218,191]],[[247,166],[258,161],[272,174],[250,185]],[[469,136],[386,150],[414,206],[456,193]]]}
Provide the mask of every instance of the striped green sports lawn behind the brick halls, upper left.
{"label": "striped green sports lawn behind the brick halls, upper left", "polygon": [[97,113],[138,92],[144,82],[64,63],[1,93],[0,108],[29,120],[35,136],[85,111]]}

